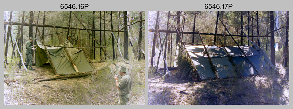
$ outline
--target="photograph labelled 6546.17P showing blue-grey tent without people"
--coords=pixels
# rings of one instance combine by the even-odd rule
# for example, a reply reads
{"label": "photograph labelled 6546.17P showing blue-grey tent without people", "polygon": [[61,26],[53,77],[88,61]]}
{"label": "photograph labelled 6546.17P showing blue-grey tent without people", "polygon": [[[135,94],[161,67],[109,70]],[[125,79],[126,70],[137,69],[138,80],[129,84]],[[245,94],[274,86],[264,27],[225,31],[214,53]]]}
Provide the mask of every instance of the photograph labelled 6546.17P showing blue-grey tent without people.
{"label": "photograph labelled 6546.17P showing blue-grey tent without people", "polygon": [[289,11],[149,11],[148,105],[289,105]]}

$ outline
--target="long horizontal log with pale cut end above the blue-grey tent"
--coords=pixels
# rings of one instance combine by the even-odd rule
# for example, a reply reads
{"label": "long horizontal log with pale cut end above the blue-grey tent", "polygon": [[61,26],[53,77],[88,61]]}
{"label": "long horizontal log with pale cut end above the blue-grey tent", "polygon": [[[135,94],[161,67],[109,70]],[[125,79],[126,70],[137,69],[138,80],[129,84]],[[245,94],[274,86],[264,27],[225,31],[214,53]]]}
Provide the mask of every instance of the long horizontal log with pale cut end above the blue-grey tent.
{"label": "long horizontal log with pale cut end above the blue-grey tent", "polygon": [[[154,29],[149,29],[150,32],[156,32]],[[167,33],[167,30],[159,30],[159,33]],[[182,34],[198,34],[198,32],[184,32],[184,31],[178,31]],[[176,31],[168,31],[168,33],[177,33]],[[224,34],[214,34],[214,33],[200,33],[201,35],[218,35],[218,36],[235,36],[235,37],[246,37],[244,35],[224,35]],[[248,37],[270,37],[270,36],[248,36]]]}

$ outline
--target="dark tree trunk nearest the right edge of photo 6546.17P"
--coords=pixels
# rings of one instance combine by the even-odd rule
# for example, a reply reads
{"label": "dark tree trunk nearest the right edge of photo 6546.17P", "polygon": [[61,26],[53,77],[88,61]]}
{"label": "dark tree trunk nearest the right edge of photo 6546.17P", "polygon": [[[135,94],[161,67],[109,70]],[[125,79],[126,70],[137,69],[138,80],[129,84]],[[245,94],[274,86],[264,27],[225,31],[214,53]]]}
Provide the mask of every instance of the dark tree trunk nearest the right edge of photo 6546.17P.
{"label": "dark tree trunk nearest the right edge of photo 6546.17P", "polygon": [[289,43],[289,11],[287,11],[286,16],[286,40],[285,40],[285,49],[284,49],[284,55],[285,55],[285,62],[284,66],[288,67],[288,58],[289,58],[289,50],[288,50],[288,43]]}

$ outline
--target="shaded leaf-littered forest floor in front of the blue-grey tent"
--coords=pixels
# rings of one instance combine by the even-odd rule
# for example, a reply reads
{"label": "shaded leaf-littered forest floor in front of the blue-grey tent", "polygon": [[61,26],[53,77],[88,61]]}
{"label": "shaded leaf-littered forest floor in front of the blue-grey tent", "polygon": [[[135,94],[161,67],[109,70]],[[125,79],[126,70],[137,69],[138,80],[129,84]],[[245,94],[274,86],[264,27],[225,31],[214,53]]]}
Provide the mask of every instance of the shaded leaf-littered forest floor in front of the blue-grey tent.
{"label": "shaded leaf-littered forest floor in front of the blue-grey tent", "polygon": [[244,78],[211,79],[203,82],[179,79],[177,70],[148,77],[151,105],[289,105],[289,67],[277,65],[276,73]]}

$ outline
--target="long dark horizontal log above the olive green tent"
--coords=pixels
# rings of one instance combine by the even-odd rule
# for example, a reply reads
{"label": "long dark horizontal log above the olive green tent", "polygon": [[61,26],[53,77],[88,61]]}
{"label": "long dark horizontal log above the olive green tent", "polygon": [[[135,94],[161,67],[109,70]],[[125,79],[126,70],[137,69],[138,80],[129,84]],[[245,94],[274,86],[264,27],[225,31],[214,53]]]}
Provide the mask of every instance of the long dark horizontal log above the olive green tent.
{"label": "long dark horizontal log above the olive green tent", "polygon": [[[10,22],[8,21],[4,21],[4,25],[10,25]],[[22,23],[19,22],[12,22],[12,25],[22,25]],[[29,24],[29,23],[23,23],[23,26],[36,26],[35,24]],[[38,24],[38,27],[50,27],[50,28],[54,28],[52,25],[41,25]],[[56,28],[62,28],[62,29],[74,29],[74,30],[86,30],[86,28],[73,28],[73,27],[64,27],[64,26],[55,26]],[[98,29],[87,29],[89,31],[110,31],[111,30],[98,30]],[[123,32],[123,31],[113,31],[113,32]]]}

